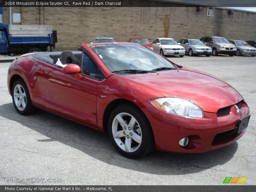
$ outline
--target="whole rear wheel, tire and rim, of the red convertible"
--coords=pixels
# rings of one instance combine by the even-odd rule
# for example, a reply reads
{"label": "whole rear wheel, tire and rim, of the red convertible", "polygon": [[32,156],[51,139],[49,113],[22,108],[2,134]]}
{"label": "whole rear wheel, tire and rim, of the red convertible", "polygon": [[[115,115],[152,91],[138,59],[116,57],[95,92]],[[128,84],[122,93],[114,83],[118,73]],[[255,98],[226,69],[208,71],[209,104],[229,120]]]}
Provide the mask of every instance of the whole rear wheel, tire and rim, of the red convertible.
{"label": "whole rear wheel, tire and rim, of the red convertible", "polygon": [[21,115],[29,115],[35,111],[32,105],[28,88],[23,80],[18,79],[12,86],[12,102]]}

